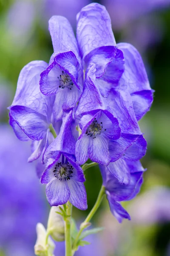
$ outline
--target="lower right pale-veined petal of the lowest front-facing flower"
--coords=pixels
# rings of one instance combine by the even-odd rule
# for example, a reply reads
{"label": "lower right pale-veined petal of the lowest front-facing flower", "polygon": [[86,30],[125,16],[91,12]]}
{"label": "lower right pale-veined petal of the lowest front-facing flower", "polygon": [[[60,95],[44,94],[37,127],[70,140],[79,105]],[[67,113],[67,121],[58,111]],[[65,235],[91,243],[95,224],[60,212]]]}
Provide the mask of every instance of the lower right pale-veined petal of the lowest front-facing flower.
{"label": "lower right pale-veined petal of the lowest front-facing flower", "polygon": [[72,179],[68,180],[68,187],[70,189],[70,203],[80,210],[86,210],[88,205],[84,184]]}

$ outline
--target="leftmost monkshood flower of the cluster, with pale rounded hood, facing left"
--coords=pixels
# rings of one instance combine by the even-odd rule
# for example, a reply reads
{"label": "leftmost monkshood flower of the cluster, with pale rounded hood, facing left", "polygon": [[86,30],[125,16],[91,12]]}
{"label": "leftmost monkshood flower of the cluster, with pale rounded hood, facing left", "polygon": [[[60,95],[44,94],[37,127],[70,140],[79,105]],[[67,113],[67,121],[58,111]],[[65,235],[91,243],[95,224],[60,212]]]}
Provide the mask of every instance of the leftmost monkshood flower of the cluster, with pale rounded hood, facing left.
{"label": "leftmost monkshood flower of the cluster, with pale rounded hood, facing left", "polygon": [[54,97],[40,92],[40,73],[48,65],[31,61],[20,72],[17,90],[9,107],[9,123],[18,139],[34,140],[29,162],[36,160],[48,146],[49,125],[53,122]]}

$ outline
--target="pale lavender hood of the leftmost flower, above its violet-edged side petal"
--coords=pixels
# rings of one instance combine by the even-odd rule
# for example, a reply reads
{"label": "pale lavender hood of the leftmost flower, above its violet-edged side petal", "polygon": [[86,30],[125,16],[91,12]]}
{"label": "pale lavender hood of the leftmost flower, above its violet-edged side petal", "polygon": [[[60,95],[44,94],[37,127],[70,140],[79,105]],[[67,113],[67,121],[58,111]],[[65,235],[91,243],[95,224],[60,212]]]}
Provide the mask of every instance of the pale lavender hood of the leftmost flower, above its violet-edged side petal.
{"label": "pale lavender hood of the leftmost flower, above its violet-edged side petal", "polygon": [[53,98],[44,96],[40,92],[39,86],[40,73],[46,67],[48,67],[48,64],[45,61],[31,61],[23,67],[11,107],[16,105],[25,106],[50,117]]}

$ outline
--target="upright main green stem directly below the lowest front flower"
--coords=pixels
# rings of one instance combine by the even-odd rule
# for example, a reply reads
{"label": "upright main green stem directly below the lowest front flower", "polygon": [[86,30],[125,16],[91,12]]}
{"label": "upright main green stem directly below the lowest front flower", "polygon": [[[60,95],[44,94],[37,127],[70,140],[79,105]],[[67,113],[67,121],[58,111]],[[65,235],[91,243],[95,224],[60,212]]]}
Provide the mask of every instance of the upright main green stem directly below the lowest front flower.
{"label": "upright main green stem directly below the lowest front flower", "polygon": [[[72,244],[71,244],[71,212],[72,204],[68,201],[66,205],[66,214],[65,218],[65,256],[72,256]],[[70,217],[68,217],[70,216]]]}

